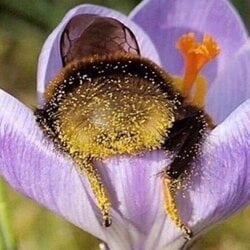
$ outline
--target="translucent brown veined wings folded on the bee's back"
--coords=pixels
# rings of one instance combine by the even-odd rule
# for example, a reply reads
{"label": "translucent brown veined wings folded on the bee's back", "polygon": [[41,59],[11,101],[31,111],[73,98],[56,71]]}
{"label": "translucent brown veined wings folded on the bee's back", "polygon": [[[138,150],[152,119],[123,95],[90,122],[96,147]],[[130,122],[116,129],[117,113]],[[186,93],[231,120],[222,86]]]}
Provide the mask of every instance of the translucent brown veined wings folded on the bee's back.
{"label": "translucent brown veined wings folded on the bee's back", "polygon": [[63,64],[91,55],[110,53],[140,54],[132,31],[121,22],[93,14],[75,16],[61,37]]}

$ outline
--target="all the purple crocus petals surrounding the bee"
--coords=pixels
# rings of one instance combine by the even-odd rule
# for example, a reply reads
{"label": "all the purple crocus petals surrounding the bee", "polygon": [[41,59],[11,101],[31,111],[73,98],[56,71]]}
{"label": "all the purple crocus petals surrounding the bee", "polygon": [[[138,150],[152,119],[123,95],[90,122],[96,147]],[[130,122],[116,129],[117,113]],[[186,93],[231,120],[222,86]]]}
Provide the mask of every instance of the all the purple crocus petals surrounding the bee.
{"label": "all the purple crocus petals surrounding the bee", "polygon": [[[216,123],[195,163],[189,187],[178,197],[183,220],[199,236],[250,202],[250,44],[226,0],[146,0],[129,17],[94,5],[80,5],[64,17],[43,47],[38,65],[38,102],[62,69],[59,49],[66,24],[78,14],[112,17],[136,37],[143,57],[174,77],[184,61],[176,41],[185,33],[211,35],[220,55],[201,72],[206,79],[205,110]],[[86,39],[88,39],[86,37]],[[100,212],[84,176],[48,142],[33,111],[0,92],[0,172],[13,188],[106,242],[110,249],[180,249],[186,242],[166,216],[157,173],[169,159],[162,151],[117,156],[98,162],[112,200],[113,224]]]}

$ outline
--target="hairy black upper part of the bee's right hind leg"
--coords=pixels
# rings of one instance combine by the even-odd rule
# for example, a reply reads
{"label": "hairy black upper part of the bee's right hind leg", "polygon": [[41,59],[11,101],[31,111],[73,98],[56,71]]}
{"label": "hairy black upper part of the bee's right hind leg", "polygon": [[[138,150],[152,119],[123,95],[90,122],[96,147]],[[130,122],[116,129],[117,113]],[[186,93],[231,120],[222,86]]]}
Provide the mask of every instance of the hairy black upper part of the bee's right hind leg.
{"label": "hairy black upper part of the bee's right hind leg", "polygon": [[166,169],[167,175],[178,179],[189,171],[192,163],[201,152],[202,143],[209,130],[209,117],[202,109],[192,105],[183,107],[181,119],[176,120],[163,144],[172,151],[174,157]]}

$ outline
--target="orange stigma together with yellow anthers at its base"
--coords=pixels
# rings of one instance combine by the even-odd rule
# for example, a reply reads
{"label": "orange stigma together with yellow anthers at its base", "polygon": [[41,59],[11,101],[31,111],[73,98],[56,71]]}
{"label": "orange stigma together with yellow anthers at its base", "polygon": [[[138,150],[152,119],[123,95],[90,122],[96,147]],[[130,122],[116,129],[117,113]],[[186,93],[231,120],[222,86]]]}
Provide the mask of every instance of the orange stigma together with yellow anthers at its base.
{"label": "orange stigma together with yellow anthers at its base", "polygon": [[202,42],[198,43],[194,33],[181,36],[176,47],[183,55],[185,70],[183,78],[174,77],[174,84],[194,105],[203,107],[207,86],[206,79],[199,73],[220,53],[220,47],[209,35],[204,35]]}

